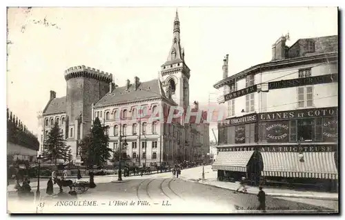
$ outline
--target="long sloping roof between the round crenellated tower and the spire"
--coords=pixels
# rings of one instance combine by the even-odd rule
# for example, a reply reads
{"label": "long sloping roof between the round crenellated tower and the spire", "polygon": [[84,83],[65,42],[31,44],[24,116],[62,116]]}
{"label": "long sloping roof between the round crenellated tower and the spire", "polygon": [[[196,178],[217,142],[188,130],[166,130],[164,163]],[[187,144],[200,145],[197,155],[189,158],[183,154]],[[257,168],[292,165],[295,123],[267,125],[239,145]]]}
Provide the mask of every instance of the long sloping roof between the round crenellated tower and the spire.
{"label": "long sloping roof between the round crenellated tower and the spire", "polygon": [[108,92],[104,97],[102,97],[95,106],[107,106],[159,97],[166,98],[166,94],[161,86],[161,81],[159,81],[159,79],[152,79],[150,81],[140,82],[137,90],[135,90],[135,85],[133,83],[130,85],[128,90],[127,86],[117,87],[112,90],[111,93]]}

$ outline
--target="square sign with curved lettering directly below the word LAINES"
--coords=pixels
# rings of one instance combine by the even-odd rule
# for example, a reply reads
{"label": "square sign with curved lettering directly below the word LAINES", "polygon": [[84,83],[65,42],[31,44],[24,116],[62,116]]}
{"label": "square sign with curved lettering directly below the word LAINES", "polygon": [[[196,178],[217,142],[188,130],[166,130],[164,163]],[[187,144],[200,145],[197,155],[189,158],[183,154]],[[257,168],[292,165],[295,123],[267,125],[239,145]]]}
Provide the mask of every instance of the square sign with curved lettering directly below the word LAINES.
{"label": "square sign with curved lettering directly below the word LAINES", "polygon": [[288,121],[266,124],[266,141],[288,142]]}

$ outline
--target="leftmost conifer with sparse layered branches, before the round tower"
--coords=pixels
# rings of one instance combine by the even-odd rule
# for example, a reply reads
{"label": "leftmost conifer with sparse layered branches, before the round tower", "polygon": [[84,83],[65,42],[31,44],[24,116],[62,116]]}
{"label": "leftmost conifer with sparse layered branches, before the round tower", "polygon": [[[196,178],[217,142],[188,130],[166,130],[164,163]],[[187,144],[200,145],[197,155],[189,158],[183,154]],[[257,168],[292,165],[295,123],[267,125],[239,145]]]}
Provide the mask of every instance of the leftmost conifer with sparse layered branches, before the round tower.
{"label": "leftmost conifer with sparse layered branches, before the round tower", "polygon": [[66,146],[63,140],[63,134],[60,132],[59,126],[55,123],[54,127],[48,133],[46,141],[44,141],[44,150],[41,155],[43,161],[53,161],[57,166],[57,160],[63,159],[66,161],[69,157],[69,146]]}

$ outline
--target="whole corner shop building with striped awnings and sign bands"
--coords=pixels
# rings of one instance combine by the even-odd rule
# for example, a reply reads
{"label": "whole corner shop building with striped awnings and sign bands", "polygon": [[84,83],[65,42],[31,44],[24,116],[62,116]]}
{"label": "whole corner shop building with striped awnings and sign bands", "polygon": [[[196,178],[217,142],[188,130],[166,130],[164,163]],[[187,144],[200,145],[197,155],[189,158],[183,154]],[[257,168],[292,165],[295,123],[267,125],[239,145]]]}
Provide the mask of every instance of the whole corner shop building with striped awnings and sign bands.
{"label": "whole corner shop building with striped awnings and sign bands", "polygon": [[[228,105],[213,166],[219,177],[335,189],[337,41],[315,37],[288,47],[280,37],[270,62],[230,77],[224,59],[225,78],[215,85],[225,91],[219,103]],[[237,160],[229,162],[231,157]]]}

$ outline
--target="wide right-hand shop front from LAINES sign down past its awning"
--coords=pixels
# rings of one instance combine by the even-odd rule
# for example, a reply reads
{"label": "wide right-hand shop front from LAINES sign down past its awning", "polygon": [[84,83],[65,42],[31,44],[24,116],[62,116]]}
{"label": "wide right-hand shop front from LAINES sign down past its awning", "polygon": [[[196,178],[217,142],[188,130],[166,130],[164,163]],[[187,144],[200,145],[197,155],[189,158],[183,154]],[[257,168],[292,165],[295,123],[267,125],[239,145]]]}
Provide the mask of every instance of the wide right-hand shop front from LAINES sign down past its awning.
{"label": "wide right-hand shop front from LAINES sign down past its awning", "polygon": [[258,114],[262,183],[337,190],[337,107]]}

